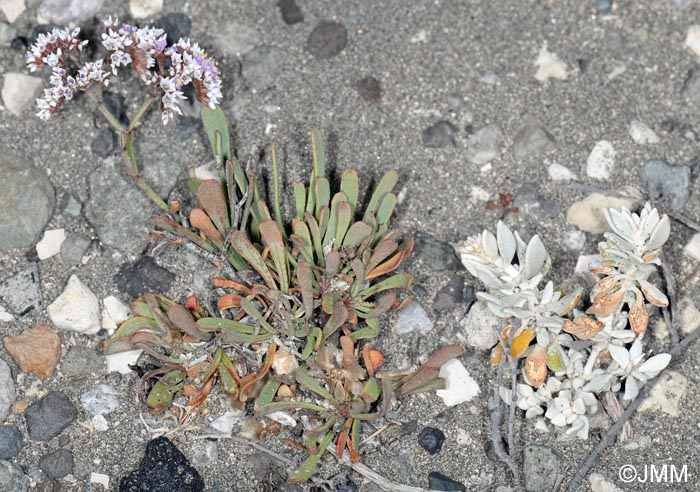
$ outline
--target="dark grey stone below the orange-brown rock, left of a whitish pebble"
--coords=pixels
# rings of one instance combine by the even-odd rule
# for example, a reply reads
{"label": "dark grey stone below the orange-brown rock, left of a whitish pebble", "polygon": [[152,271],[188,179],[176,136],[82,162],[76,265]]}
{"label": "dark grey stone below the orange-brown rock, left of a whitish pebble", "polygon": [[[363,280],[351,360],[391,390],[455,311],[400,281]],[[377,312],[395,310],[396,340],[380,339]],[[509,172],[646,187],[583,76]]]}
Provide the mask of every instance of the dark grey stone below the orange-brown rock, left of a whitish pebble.
{"label": "dark grey stone below the orange-brown rock, left of a whitish pebble", "polygon": [[54,391],[29,405],[24,416],[27,419],[29,438],[33,441],[48,441],[78,418],[78,409],[64,393]]}

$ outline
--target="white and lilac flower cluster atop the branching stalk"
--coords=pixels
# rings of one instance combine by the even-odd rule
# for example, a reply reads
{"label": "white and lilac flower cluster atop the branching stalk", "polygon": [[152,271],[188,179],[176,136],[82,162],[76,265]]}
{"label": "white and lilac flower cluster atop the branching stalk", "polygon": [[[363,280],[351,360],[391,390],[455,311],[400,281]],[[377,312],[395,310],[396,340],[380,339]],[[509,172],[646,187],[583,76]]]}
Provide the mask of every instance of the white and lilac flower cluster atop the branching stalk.
{"label": "white and lilac flower cluster atop the branching stalk", "polygon": [[[54,29],[41,34],[26,55],[27,66],[35,71],[42,66],[51,68],[51,87],[44,97],[37,99],[39,116],[48,119],[58,111],[63,101],[70,100],[78,90],[87,90],[92,84],[108,86],[110,76],[117,75],[119,67],[131,66],[141,80],[152,86],[160,96],[163,123],[175,113],[182,114],[180,102],[186,99],[182,88],[192,84],[197,100],[214,107],[222,98],[219,70],[196,43],[180,39],[168,46],[166,34],[154,27],[118,25],[111,17],[104,22],[102,46],[108,51],[104,59],[83,63],[81,53],[87,41],[80,41],[80,29]],[[78,68],[75,75],[66,69],[68,61]]]}

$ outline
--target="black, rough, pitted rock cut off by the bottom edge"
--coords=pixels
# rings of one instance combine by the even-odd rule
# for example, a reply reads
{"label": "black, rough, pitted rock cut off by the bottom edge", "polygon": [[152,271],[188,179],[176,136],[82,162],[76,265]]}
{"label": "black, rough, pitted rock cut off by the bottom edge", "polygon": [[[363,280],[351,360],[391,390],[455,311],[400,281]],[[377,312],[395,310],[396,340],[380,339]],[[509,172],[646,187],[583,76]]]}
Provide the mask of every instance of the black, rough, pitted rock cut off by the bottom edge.
{"label": "black, rough, pitted rock cut off by the bottom edge", "polygon": [[138,470],[119,482],[119,492],[200,492],[204,480],[169,439],[159,437],[146,445]]}

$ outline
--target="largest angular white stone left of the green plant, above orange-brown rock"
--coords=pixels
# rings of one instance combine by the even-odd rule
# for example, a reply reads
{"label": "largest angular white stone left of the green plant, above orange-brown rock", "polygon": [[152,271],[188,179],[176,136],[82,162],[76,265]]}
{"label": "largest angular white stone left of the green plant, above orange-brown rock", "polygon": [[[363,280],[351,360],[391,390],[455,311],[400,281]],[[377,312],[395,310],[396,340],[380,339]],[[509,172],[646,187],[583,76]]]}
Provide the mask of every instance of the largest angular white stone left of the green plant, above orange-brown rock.
{"label": "largest angular white stone left of the green plant, above orange-brown rock", "polygon": [[48,307],[48,313],[60,330],[86,335],[100,331],[100,302],[77,275],[71,275],[63,293]]}

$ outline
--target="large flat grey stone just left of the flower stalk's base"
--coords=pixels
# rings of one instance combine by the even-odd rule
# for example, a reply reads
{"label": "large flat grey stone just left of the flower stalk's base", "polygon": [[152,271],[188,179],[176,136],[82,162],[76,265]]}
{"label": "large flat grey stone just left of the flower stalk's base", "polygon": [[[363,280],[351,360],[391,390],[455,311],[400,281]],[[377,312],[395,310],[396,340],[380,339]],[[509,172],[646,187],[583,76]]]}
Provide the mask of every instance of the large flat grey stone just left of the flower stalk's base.
{"label": "large flat grey stone just left of the flower stalk's base", "polygon": [[90,174],[90,199],[85,215],[104,244],[124,253],[138,254],[146,247],[144,227],[156,207],[124,176],[122,168],[121,160],[112,158]]}

